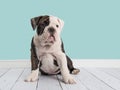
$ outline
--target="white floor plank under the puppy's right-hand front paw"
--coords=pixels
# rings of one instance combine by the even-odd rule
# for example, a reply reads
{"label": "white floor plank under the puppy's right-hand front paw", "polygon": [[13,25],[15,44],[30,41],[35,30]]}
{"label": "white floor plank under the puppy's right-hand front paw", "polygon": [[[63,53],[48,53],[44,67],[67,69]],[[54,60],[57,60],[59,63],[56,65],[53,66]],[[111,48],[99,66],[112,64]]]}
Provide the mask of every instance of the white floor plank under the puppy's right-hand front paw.
{"label": "white floor plank under the puppy's right-hand front paw", "polygon": [[77,75],[72,75],[76,80],[76,84],[65,84],[61,75],[57,75],[63,90],[88,90],[77,78]]}

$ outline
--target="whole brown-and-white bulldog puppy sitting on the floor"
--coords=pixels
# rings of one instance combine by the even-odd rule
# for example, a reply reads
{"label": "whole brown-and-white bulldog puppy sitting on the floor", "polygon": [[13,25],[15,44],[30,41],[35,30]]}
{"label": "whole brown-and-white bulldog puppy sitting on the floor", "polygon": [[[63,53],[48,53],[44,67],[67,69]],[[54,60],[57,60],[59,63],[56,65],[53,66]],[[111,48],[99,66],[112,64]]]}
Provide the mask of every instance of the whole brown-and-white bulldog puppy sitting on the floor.
{"label": "whole brown-and-white bulldog puppy sitting on the floor", "polygon": [[65,54],[60,33],[63,20],[55,16],[38,16],[31,19],[36,34],[31,42],[31,74],[25,81],[34,82],[40,74],[61,74],[66,84],[75,83],[70,74],[77,74],[72,60]]}

